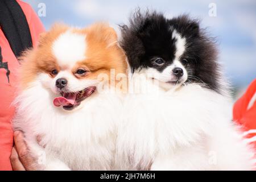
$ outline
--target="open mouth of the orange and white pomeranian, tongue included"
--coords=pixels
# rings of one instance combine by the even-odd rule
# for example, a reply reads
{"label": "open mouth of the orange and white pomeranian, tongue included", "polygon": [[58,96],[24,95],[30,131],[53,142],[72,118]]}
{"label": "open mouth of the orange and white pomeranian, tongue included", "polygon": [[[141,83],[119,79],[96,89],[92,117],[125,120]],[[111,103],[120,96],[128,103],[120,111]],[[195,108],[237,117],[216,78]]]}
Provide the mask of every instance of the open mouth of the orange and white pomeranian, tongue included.
{"label": "open mouth of the orange and white pomeranian, tongue included", "polygon": [[53,104],[56,107],[63,106],[65,110],[72,110],[81,104],[81,101],[92,96],[95,92],[96,86],[89,86],[79,92],[67,93],[61,92],[61,97],[56,97],[53,100]]}

